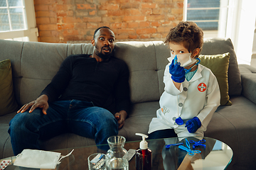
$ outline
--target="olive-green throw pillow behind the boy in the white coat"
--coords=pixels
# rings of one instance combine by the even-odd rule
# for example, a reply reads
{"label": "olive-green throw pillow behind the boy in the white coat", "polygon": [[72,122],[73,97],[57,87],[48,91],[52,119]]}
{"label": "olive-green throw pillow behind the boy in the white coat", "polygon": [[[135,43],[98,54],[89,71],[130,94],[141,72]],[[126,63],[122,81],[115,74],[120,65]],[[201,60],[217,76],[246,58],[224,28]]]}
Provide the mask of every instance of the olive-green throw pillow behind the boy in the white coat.
{"label": "olive-green throw pillow behind the boy in the white coat", "polygon": [[218,80],[220,86],[220,106],[231,106],[228,95],[228,64],[230,53],[223,55],[199,55],[203,66],[209,68]]}

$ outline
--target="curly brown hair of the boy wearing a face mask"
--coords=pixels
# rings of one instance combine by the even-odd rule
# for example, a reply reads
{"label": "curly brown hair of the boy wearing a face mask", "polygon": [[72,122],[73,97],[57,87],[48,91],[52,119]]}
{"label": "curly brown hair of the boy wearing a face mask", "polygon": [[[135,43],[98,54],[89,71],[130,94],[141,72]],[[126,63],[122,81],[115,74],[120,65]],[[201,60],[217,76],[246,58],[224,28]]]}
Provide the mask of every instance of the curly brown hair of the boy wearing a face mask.
{"label": "curly brown hair of the boy wearing a face mask", "polygon": [[194,22],[182,21],[178,23],[178,26],[171,28],[169,31],[164,43],[168,44],[169,42],[182,43],[188,52],[193,52],[196,48],[199,48],[201,51],[203,46],[203,30]]}

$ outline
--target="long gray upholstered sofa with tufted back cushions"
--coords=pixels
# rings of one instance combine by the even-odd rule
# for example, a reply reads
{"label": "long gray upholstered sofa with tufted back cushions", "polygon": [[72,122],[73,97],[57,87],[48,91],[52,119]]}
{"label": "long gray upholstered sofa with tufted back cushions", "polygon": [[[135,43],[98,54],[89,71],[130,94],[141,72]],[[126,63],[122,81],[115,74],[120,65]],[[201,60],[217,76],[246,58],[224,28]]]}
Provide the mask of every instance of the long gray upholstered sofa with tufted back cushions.
{"label": "long gray upholstered sofa with tufted back cushions", "polygon": [[[116,42],[116,56],[127,62],[130,71],[132,111],[119,135],[127,141],[141,140],[135,132],[147,134],[151,118],[156,116],[159,98],[164,91],[164,68],[169,48],[160,41]],[[256,68],[239,65],[230,39],[206,39],[202,55],[230,52],[228,86],[232,106],[219,106],[206,137],[225,142],[233,149],[228,169],[255,169],[256,153]],[[90,44],[53,44],[0,40],[0,61],[10,59],[14,94],[22,106],[38,97],[58,71],[61,62],[71,54],[92,53]],[[0,96],[4,97],[4,96]],[[7,132],[16,113],[0,116],[0,159],[13,155]],[[46,150],[95,145],[94,140],[74,134],[63,134],[41,142]]]}

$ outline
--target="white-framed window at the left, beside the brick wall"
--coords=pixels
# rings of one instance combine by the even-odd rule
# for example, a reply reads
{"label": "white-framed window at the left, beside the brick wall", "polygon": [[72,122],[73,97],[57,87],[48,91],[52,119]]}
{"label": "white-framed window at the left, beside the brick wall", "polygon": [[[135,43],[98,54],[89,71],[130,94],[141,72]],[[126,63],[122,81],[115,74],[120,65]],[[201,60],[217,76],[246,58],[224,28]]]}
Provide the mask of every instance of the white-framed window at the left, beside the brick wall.
{"label": "white-framed window at the left, beside the brick wall", "polygon": [[0,1],[0,38],[37,41],[38,30],[33,0]]}

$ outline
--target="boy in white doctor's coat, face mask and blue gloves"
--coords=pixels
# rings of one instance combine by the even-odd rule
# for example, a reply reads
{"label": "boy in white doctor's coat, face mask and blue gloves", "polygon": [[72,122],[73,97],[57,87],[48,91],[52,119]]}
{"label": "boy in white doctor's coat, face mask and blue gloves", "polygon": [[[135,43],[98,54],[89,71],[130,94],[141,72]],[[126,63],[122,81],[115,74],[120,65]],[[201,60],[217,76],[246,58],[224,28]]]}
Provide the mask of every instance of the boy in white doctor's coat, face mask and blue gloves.
{"label": "boy in white doctor's coat, face mask and blue gloves", "polygon": [[199,64],[203,30],[193,22],[181,22],[166,36],[171,50],[164,72],[164,93],[156,118],[149,125],[149,139],[203,137],[220,106],[218,81],[210,69]]}

